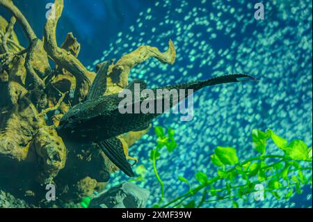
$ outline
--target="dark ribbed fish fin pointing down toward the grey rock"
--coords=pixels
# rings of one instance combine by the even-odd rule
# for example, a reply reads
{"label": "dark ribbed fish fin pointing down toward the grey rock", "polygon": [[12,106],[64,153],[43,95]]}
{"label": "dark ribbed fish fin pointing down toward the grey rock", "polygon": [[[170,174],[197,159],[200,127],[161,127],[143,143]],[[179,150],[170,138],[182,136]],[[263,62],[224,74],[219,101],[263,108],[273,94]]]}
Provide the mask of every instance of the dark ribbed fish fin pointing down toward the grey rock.
{"label": "dark ribbed fish fin pointing down toward the grey rock", "polygon": [[105,141],[97,143],[97,145],[104,152],[104,154],[109,157],[113,164],[120,168],[121,171],[129,177],[135,176],[134,171],[131,169],[131,165],[126,159],[122,142],[118,138],[109,138]]}

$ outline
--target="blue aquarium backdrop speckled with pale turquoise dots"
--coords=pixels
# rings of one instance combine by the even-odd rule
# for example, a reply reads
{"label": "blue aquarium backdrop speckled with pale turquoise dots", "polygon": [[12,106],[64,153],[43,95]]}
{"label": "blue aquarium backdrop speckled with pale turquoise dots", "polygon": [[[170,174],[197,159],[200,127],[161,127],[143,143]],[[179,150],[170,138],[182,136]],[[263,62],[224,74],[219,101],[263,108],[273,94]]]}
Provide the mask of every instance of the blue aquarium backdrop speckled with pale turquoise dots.
{"label": "blue aquarium backdrop speckled with pale turquoise dots", "polygon": [[[15,1],[42,36],[45,6],[51,1]],[[265,19],[254,19],[254,5],[264,3]],[[2,9],[1,15],[8,14]],[[205,88],[194,96],[194,118],[161,116],[154,125],[176,130],[178,148],[163,152],[158,160],[165,185],[165,202],[188,190],[179,182],[182,175],[198,183],[197,171],[216,175],[210,155],[216,146],[237,148],[239,158],[256,154],[252,129],[273,129],[288,140],[299,138],[312,145],[312,1],[226,1],[226,0],[65,0],[58,24],[58,43],[68,32],[81,43],[80,60],[93,69],[100,61],[117,61],[141,45],[166,50],[172,39],[177,49],[174,65],[149,60],[131,71],[150,87],[163,86],[219,74],[244,72],[259,79],[258,84],[230,84]],[[17,31],[22,45],[26,38]],[[131,147],[147,173],[137,182],[151,191],[147,207],[157,202],[159,184],[152,171],[150,150],[153,130]],[[273,151],[273,150],[272,150]],[[271,150],[269,150],[271,152]],[[273,151],[275,152],[275,151]],[[129,180],[122,173],[112,175],[109,186]],[[223,184],[220,184],[223,186]],[[241,207],[312,207],[312,187],[291,200],[268,196],[257,202],[251,196]],[[232,207],[218,201],[204,207]]]}

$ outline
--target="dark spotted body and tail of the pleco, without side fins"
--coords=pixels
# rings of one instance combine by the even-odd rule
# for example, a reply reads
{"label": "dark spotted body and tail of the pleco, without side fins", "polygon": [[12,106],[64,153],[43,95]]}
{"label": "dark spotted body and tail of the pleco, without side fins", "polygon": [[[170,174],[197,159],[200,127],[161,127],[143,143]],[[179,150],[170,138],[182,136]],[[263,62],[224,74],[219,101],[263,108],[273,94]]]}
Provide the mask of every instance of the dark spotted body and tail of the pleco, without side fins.
{"label": "dark spotted body and tail of the pleco, without side fins", "polygon": [[[172,98],[166,95],[158,97],[157,89],[152,90],[154,92],[155,104],[157,104],[157,100],[162,100],[162,102],[168,100],[171,108],[177,104],[177,102],[188,96],[188,89],[192,89],[195,92],[206,86],[255,80],[254,77],[247,74],[229,74],[204,81],[160,88],[168,90],[184,89],[186,92],[185,97],[179,98],[176,102],[173,102]],[[58,127],[59,134],[65,135],[67,138],[73,138],[76,141],[93,141],[97,143],[120,134],[125,134],[129,131],[138,131],[145,127],[147,128],[152,120],[160,115],[160,113],[157,112],[122,114],[118,109],[122,100],[124,100],[124,98],[118,97],[118,94],[104,95],[73,106],[72,109],[63,116]],[[141,98],[139,103],[142,103],[144,100],[145,98]],[[131,104],[131,106],[135,105],[136,102]]]}

